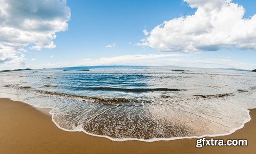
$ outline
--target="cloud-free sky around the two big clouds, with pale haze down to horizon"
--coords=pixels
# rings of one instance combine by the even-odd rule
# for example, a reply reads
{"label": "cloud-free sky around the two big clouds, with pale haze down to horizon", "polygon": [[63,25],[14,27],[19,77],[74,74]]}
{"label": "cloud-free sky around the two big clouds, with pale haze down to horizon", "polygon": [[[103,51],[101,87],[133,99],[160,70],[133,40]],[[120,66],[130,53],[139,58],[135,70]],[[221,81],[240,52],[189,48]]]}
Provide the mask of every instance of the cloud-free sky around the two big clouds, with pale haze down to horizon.
{"label": "cloud-free sky around the two big clouds, with pale haze down to horizon", "polygon": [[[256,13],[255,1],[237,0],[232,1],[232,3],[238,3],[244,7],[246,10],[244,17],[246,18],[250,18]],[[198,8],[191,8],[189,3],[181,0],[68,0],[66,6],[70,8],[71,17],[67,20],[68,29],[56,30],[56,38],[53,39],[56,47],[48,49],[44,46],[38,51],[31,49],[34,42],[29,43],[24,47],[26,51],[22,52],[23,56],[26,57],[23,67],[54,68],[76,65],[129,64],[256,68],[255,49],[236,48],[232,43],[230,43],[229,48],[222,48],[222,46],[219,48],[218,45],[216,51],[206,50],[188,53],[183,52],[183,48],[181,51],[175,52],[170,49],[162,50],[151,40],[145,41],[147,45],[139,45],[140,42],[143,42],[141,39],[149,38],[152,35],[145,36],[143,30],[151,32],[163,21],[195,14]],[[173,42],[169,43],[166,46],[174,45]],[[114,45],[114,47],[106,48],[108,45]],[[20,52],[17,55],[19,54]],[[143,56],[148,55],[151,55],[151,58],[143,58]],[[162,56],[159,57],[158,55]],[[130,59],[128,58],[127,61],[116,60],[118,58],[126,59],[125,56],[129,56]],[[133,60],[133,56],[140,58]],[[5,67],[6,65],[3,64],[2,68]]]}

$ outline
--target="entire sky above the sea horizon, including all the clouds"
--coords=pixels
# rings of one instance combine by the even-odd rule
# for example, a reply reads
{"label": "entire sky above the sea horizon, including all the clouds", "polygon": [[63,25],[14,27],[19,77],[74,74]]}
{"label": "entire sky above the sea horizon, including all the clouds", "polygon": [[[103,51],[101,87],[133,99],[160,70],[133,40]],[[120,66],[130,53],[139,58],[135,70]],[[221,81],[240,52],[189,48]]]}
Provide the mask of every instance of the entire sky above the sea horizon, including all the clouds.
{"label": "entire sky above the sea horizon, including all the clouds", "polygon": [[0,0],[0,70],[256,69],[253,0]]}

